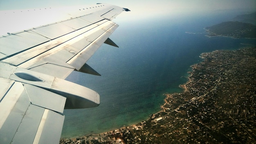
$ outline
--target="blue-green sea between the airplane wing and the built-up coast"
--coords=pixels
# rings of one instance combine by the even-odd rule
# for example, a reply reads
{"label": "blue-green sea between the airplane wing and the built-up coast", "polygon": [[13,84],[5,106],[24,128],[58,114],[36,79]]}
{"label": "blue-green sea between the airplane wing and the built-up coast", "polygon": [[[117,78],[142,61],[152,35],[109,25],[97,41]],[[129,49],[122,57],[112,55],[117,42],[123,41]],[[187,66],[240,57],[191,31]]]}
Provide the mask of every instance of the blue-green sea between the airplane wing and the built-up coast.
{"label": "blue-green sea between the airplane wing and the built-up coast", "polygon": [[[66,80],[100,94],[101,104],[90,109],[64,110],[62,138],[103,133],[147,120],[160,111],[165,93],[180,93],[191,65],[201,53],[256,45],[254,39],[207,37],[204,27],[228,21],[241,11],[146,18],[126,18],[110,39],[88,60],[101,76],[72,72]],[[120,16],[121,17],[121,14]],[[74,90],[78,91],[78,90]]]}

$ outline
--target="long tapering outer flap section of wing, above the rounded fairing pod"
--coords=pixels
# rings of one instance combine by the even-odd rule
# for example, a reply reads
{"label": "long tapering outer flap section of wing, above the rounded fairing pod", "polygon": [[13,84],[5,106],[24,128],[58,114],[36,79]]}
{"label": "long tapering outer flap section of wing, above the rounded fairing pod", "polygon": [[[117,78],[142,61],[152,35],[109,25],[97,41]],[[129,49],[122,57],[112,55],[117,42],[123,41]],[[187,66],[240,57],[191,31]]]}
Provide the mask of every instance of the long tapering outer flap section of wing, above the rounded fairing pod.
{"label": "long tapering outer flap section of wing, above the rounded fairing pod", "polygon": [[[64,79],[72,70],[80,70],[117,27],[102,20],[2,61]],[[54,66],[62,71],[52,69]]]}

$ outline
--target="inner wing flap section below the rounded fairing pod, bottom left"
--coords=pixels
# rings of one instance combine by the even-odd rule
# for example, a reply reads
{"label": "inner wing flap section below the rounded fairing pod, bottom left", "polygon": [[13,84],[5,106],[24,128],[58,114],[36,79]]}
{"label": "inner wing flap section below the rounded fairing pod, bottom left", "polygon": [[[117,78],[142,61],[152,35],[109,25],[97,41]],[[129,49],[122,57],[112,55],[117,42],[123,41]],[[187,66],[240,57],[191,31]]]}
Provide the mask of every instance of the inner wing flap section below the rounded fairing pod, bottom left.
{"label": "inner wing flap section below the rounded fairing pod, bottom left", "polygon": [[[36,135],[40,143],[59,141],[64,116],[54,111],[63,112],[65,97],[21,82],[14,82],[4,95],[0,102],[4,109],[0,111],[1,144],[32,144]],[[44,117],[44,111],[50,115]],[[47,135],[52,132],[57,135]]]}

